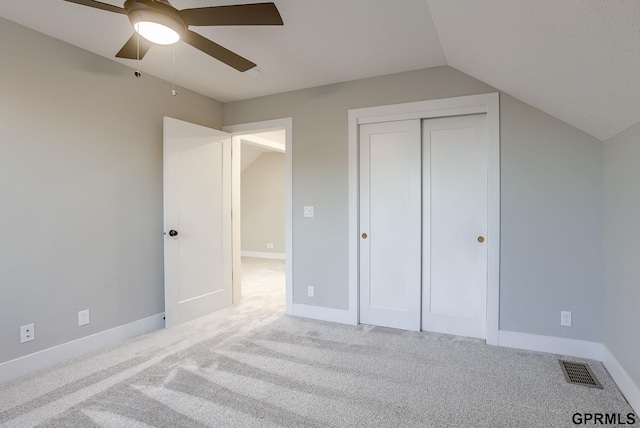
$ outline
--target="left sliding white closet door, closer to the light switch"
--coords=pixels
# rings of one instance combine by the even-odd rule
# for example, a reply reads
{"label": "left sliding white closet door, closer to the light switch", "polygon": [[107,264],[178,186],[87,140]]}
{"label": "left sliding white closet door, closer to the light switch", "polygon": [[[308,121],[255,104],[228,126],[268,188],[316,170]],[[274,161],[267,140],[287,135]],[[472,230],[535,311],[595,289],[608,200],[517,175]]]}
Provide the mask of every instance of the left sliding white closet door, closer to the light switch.
{"label": "left sliding white closet door, closer to the light switch", "polygon": [[420,121],[360,126],[360,322],[420,330]]}

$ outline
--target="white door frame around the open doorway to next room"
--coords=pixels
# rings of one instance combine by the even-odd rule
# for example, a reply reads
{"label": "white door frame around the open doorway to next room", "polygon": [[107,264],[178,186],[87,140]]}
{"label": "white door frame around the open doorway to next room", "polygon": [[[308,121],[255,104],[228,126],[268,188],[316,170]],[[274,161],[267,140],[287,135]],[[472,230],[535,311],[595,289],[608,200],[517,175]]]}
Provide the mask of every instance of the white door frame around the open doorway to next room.
{"label": "white door frame around the open doorway to next room", "polygon": [[285,130],[285,281],[286,281],[286,313],[293,314],[293,182],[292,182],[292,146],[293,118],[265,120],[261,122],[242,123],[223,126],[222,130],[231,134],[231,228],[232,228],[232,282],[233,303],[241,296],[241,239],[240,239],[240,175],[242,166],[240,156],[241,136],[260,132]]}

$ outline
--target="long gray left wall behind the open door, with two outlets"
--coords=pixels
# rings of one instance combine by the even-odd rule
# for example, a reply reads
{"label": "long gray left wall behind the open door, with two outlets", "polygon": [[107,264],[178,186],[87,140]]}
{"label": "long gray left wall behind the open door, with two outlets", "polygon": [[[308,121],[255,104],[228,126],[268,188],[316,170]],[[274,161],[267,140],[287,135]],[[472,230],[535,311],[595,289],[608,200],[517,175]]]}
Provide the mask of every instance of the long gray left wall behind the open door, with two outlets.
{"label": "long gray left wall behind the open door, with two outlets", "polygon": [[0,40],[4,362],[164,311],[162,117],[220,128],[222,105],[2,19]]}

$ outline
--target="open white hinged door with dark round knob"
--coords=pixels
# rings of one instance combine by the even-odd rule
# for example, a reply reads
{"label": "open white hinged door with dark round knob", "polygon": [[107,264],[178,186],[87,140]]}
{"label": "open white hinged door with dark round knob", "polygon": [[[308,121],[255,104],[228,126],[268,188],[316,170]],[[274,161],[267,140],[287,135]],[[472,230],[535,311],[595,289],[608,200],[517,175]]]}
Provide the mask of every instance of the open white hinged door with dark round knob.
{"label": "open white hinged door with dark round knob", "polygon": [[164,118],[164,232],[166,327],[230,305],[230,134]]}

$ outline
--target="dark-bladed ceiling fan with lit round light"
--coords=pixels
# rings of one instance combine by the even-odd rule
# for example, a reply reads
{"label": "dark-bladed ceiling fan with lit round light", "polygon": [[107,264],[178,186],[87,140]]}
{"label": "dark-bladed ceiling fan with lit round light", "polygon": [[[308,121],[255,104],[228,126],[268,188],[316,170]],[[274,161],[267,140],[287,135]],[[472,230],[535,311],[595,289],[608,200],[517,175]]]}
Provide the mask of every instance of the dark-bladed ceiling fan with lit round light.
{"label": "dark-bladed ceiling fan with lit round light", "polygon": [[116,54],[117,58],[142,59],[154,43],[168,45],[183,40],[238,71],[247,71],[256,64],[189,30],[189,26],[283,25],[280,13],[273,3],[178,10],[168,0],[126,0],[123,7],[94,0],[65,1],[129,17],[137,33],[124,44]]}

